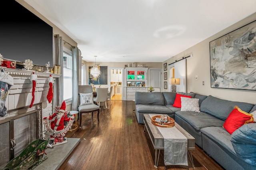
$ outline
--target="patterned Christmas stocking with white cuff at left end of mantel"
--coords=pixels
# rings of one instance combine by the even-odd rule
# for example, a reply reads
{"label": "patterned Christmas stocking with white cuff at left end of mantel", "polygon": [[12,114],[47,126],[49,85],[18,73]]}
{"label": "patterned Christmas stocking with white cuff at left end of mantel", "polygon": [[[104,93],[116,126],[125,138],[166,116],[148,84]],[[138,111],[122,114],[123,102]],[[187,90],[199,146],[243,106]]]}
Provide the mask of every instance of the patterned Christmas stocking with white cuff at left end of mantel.
{"label": "patterned Christmas stocking with white cuff at left end of mantel", "polygon": [[7,113],[5,101],[11,86],[13,86],[13,77],[2,69],[0,72],[0,117],[4,117]]}

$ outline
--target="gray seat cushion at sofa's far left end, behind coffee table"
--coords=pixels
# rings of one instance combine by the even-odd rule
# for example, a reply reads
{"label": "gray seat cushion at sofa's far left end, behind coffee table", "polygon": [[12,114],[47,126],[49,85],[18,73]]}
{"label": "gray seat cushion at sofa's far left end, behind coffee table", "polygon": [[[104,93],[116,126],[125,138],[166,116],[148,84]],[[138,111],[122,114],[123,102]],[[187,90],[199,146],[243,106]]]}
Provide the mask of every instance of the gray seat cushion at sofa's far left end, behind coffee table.
{"label": "gray seat cushion at sofa's far left end, behind coffee table", "polygon": [[164,105],[136,104],[135,107],[136,107],[136,111],[139,113],[162,113],[162,114],[173,113],[172,110],[168,109],[168,107]]}

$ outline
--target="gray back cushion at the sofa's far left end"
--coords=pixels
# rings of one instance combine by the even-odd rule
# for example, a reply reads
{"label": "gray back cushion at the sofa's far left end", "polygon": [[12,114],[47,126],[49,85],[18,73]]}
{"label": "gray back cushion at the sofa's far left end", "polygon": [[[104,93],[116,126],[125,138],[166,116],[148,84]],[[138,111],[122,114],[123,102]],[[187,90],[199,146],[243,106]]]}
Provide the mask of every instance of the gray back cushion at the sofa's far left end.
{"label": "gray back cushion at the sofa's far left end", "polygon": [[135,92],[135,104],[164,105],[162,92]]}

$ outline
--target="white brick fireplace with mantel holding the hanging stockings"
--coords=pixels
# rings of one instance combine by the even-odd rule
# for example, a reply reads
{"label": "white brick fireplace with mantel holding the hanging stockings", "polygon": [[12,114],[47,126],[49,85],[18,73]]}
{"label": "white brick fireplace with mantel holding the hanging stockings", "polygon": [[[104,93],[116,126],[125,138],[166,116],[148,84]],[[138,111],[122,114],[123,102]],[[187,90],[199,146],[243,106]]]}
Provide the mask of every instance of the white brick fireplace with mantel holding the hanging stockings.
{"label": "white brick fireplace with mantel holding the hanging stockings", "polygon": [[[33,71],[18,70],[18,69],[4,69],[4,70],[6,73],[11,75],[14,79],[14,85],[10,88],[8,96],[6,97],[5,106],[8,110],[7,114],[4,117],[0,117],[0,128],[1,128],[0,135],[2,135],[0,139],[0,143],[5,143],[5,144],[7,143],[6,146],[3,145],[2,148],[0,146],[1,148],[0,157],[2,156],[6,157],[6,160],[4,160],[4,162],[6,161],[8,162],[9,156],[6,155],[6,151],[8,151],[8,149],[12,150],[12,147],[9,146],[9,144],[10,144],[10,139],[14,138],[13,134],[15,134],[15,132],[11,132],[12,129],[15,129],[13,127],[16,127],[16,129],[17,128],[24,129],[23,131],[28,129],[30,130],[30,127],[24,127],[22,123],[22,119],[20,119],[19,121],[17,120],[22,117],[24,117],[23,120],[30,119],[31,127],[36,127],[36,129],[33,129],[34,131],[36,131],[36,138],[40,138],[42,131],[44,131],[44,127],[42,127],[42,118],[52,114],[53,106],[52,106],[52,103],[49,103],[46,98],[49,90],[48,79],[49,79],[50,73],[42,73],[37,71],[35,72],[37,75],[36,91],[34,93],[35,100],[34,100],[34,105],[31,108],[29,108],[29,105],[32,101],[32,82],[30,81],[30,76]],[[52,74],[52,77],[55,81],[55,79],[60,77],[60,75]],[[52,102],[53,101],[54,99],[52,99]],[[33,115],[33,113],[35,114]],[[29,118],[26,118],[26,116],[28,116]],[[36,123],[32,123],[33,121]],[[16,124],[19,124],[19,125],[16,125]],[[4,127],[4,125],[7,125],[8,127],[6,128]],[[30,125],[26,125],[26,126],[30,126]],[[3,129],[5,129],[5,131]],[[23,139],[25,140],[26,138],[30,138],[30,136],[22,136],[21,138],[22,140]],[[4,141],[1,141],[1,140],[4,140]],[[24,143],[27,143],[27,142],[24,142]],[[15,149],[17,150],[17,147]],[[15,156],[15,154],[12,156]],[[1,168],[1,165],[0,165],[0,168]]]}

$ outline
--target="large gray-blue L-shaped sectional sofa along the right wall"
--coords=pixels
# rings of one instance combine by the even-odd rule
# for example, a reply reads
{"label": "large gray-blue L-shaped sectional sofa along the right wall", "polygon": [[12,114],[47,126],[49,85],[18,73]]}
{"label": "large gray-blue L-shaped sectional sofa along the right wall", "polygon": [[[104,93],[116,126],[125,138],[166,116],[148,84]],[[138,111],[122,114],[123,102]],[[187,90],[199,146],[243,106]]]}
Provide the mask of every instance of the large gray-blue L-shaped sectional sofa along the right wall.
{"label": "large gray-blue L-shaped sectional sofa along the right wall", "polygon": [[167,114],[226,170],[256,170],[256,123],[243,125],[232,134],[223,128],[234,106],[252,113],[256,105],[192,92],[186,95],[199,99],[200,112],[180,111],[180,108],[173,107],[176,93],[136,92],[135,112],[138,123],[143,124],[143,114]]}

